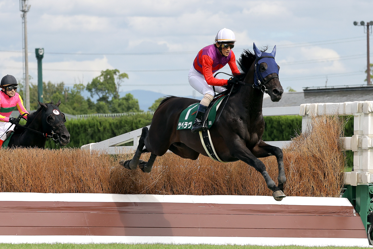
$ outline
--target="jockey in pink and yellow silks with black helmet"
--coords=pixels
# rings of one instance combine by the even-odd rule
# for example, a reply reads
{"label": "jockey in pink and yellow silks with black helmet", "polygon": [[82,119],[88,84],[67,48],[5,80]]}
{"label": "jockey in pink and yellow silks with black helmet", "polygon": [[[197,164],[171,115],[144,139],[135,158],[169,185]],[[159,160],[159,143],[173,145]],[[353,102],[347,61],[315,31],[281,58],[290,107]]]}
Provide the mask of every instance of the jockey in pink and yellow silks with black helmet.
{"label": "jockey in pink and yellow silks with black helmet", "polygon": [[19,113],[26,115],[28,112],[23,106],[21,96],[17,91],[17,80],[12,75],[6,75],[1,79],[1,91],[0,91],[0,147],[7,138],[6,131],[14,131],[14,127],[18,124],[18,119],[9,118],[12,111],[17,108]]}

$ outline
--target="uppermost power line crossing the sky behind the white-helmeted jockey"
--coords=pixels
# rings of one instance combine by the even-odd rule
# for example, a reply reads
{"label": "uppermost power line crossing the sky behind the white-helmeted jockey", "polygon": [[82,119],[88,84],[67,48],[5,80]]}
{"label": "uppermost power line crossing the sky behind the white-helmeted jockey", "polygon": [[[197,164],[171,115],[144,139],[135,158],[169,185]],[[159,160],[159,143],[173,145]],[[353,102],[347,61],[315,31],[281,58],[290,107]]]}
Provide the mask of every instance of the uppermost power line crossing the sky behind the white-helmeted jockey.
{"label": "uppermost power line crossing the sky behind the white-helmeted jockey", "polygon": [[[292,47],[308,47],[315,45],[326,45],[326,44],[336,44],[336,43],[347,43],[353,41],[365,40],[364,36],[350,37],[350,38],[339,38],[333,40],[325,41],[310,41],[303,43],[292,43],[292,44],[280,44],[276,47],[278,48],[292,48]],[[236,48],[236,50],[242,50],[247,48]],[[22,53],[22,51],[15,50],[0,50],[0,52],[12,52],[12,53]],[[176,52],[144,52],[144,53],[64,53],[64,52],[46,52],[45,54],[51,55],[185,55],[194,54],[198,51],[176,51]]]}

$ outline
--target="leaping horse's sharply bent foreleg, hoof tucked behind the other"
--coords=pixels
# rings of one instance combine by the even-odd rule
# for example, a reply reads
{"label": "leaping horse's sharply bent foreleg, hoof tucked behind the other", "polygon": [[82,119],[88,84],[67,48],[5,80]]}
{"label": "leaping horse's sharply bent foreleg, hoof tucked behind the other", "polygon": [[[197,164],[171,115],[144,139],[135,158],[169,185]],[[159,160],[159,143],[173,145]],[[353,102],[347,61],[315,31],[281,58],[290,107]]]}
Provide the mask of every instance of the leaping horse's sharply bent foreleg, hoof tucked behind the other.
{"label": "leaping horse's sharply bent foreleg, hoof tucked behind the other", "polygon": [[283,191],[283,184],[286,182],[286,176],[285,176],[285,169],[283,166],[283,153],[282,150],[279,147],[272,146],[269,144],[264,143],[264,141],[260,141],[260,143],[253,148],[253,154],[257,158],[264,158],[267,156],[276,156],[278,169],[279,169],[279,175],[278,175],[278,181],[279,181],[279,189]]}

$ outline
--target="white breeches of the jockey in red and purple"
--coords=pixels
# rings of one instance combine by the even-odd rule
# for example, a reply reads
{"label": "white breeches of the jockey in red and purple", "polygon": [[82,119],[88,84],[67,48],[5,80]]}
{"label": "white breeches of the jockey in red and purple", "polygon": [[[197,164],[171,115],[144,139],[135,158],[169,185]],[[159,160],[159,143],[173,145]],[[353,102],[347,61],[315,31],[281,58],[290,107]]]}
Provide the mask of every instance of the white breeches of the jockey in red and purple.
{"label": "white breeches of the jockey in red and purple", "polygon": [[[218,79],[218,77],[216,78]],[[199,72],[197,72],[197,70],[194,69],[193,65],[191,66],[189,70],[188,80],[189,80],[189,84],[199,93],[203,95],[210,94],[212,96],[215,96],[215,92],[214,92],[212,85],[207,84],[203,74],[200,74]],[[221,93],[222,91],[225,91],[225,90],[226,88],[224,87],[215,86],[215,91],[217,93]]]}

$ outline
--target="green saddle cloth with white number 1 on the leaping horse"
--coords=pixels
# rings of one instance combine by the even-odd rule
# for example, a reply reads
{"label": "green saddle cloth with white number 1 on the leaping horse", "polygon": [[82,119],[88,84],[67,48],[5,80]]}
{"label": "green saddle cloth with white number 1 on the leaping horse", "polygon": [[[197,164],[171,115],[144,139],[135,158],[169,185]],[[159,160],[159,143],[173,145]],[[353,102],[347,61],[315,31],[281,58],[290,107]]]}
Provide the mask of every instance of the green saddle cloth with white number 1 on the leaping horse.
{"label": "green saddle cloth with white number 1 on the leaping horse", "polygon": [[[210,129],[210,127],[214,124],[215,118],[216,118],[216,111],[219,108],[220,104],[222,103],[222,100],[226,96],[222,96],[219,99],[213,103],[211,108],[207,109],[207,129]],[[198,105],[200,103],[194,103],[190,106],[188,106],[179,117],[178,122],[178,128],[176,130],[184,130],[184,129],[191,129],[192,125],[194,123],[195,115],[197,113]]]}

